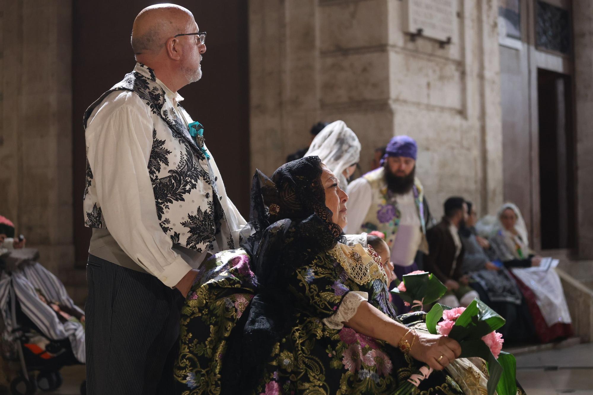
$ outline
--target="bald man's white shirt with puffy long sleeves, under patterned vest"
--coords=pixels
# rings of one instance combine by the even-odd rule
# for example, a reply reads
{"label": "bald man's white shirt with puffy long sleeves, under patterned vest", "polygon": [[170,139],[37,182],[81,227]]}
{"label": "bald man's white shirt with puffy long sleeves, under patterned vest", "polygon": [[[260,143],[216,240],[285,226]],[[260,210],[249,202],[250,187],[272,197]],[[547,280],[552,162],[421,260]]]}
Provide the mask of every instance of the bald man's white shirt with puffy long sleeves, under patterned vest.
{"label": "bald man's white shirt with puffy long sleeves, under patterned vest", "polygon": [[[148,74],[140,64],[134,71]],[[193,121],[177,106],[183,97],[158,78],[155,82],[165,92],[168,111],[174,112],[169,115],[180,119],[187,128]],[[227,246],[196,251],[174,244],[162,230],[148,169],[153,132],[149,106],[132,91],[113,91],[91,113],[85,130],[87,159],[107,226],[94,227],[89,253],[150,273],[173,287],[189,270],[199,267],[208,252],[218,252]],[[175,158],[171,153],[170,160]],[[228,199],[214,158],[210,158],[209,164],[229,230],[238,244],[239,231],[246,221]]]}

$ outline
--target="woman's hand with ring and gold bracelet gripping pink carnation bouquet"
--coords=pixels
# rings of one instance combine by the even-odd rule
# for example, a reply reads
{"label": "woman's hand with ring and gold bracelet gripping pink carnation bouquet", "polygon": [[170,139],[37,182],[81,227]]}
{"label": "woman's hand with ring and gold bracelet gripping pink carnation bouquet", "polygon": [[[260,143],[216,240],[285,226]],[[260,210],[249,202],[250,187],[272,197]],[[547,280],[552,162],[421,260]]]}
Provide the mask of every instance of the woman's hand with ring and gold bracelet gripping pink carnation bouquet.
{"label": "woman's hand with ring and gold bracelet gripping pink carnation bouquet", "polygon": [[[461,355],[461,346],[447,336],[431,335],[416,331],[417,339],[410,349],[410,355],[418,361],[425,362],[435,370],[442,370],[455,358]],[[413,333],[406,335],[406,340],[412,343]]]}

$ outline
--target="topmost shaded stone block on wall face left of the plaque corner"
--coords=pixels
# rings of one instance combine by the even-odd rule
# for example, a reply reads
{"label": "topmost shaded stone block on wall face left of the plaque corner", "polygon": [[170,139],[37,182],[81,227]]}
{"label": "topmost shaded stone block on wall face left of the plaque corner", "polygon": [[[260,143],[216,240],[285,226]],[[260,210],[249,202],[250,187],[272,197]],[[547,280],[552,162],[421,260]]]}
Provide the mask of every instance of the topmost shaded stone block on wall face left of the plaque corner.
{"label": "topmost shaded stone block on wall face left of the plaque corner", "polygon": [[387,3],[387,0],[321,1],[320,51],[387,45]]}

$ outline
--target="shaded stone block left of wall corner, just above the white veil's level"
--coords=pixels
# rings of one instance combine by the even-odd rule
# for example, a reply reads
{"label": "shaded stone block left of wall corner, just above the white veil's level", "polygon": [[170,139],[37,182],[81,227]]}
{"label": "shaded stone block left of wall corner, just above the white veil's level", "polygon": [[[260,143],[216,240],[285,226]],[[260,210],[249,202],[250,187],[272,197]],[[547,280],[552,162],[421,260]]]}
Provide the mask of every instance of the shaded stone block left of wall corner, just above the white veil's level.
{"label": "shaded stone block left of wall corner, just above the white veil's level", "polygon": [[321,106],[389,97],[387,52],[322,56]]}

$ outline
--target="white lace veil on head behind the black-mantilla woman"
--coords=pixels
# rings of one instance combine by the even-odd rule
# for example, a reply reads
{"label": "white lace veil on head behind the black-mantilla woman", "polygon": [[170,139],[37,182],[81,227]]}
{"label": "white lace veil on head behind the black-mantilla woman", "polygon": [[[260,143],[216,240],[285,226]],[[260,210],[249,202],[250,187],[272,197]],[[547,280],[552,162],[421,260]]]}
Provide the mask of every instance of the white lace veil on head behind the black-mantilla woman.
{"label": "white lace veil on head behind the black-mantilla woman", "polygon": [[352,129],[342,120],[327,125],[315,136],[305,157],[317,155],[346,189],[347,181],[342,172],[361,160],[361,143]]}

